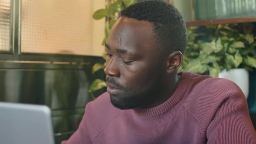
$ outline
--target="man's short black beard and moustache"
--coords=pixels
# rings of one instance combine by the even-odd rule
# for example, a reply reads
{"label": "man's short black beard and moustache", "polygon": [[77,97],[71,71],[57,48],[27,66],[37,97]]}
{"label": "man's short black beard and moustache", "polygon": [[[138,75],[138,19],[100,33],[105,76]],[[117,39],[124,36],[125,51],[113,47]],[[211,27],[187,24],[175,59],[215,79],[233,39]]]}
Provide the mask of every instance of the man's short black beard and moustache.
{"label": "man's short black beard and moustache", "polygon": [[117,84],[114,79],[109,80],[111,83],[120,86],[122,90],[121,95],[110,95],[110,101],[112,105],[116,108],[126,110],[133,108],[148,108],[153,104],[161,90],[161,85],[159,82],[154,82],[150,87],[143,91],[132,90],[131,88],[124,88],[122,85]]}

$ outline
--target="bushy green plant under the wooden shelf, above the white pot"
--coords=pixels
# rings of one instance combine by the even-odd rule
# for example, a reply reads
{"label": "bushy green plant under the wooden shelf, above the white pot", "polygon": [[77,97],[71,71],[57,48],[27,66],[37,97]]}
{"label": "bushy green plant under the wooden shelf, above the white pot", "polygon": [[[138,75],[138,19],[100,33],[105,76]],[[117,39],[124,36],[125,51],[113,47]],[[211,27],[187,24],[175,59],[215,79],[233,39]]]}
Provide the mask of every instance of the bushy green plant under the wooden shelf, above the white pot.
{"label": "bushy green plant under the wooden shelf, above the white pot", "polygon": [[256,68],[256,24],[189,27],[181,69],[217,77],[223,69]]}

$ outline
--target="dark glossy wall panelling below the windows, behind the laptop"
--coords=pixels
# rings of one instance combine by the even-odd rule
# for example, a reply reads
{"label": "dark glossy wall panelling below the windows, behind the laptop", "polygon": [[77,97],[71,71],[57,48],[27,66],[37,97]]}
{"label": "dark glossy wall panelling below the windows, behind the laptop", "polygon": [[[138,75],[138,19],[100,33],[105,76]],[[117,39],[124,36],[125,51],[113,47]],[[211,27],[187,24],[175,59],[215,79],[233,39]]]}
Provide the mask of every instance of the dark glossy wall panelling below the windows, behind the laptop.
{"label": "dark glossy wall panelling below the windows, behind the laptop", "polygon": [[91,101],[88,89],[95,78],[91,71],[92,65],[0,62],[0,101],[49,106],[59,144],[78,128]]}

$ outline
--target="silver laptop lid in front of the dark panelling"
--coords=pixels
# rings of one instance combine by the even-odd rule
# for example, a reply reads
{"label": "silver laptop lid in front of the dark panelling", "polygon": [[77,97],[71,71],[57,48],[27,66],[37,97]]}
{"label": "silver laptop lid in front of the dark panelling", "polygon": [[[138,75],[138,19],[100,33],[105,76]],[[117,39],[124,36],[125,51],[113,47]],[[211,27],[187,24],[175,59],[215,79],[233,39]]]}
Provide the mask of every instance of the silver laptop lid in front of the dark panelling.
{"label": "silver laptop lid in front of the dark panelling", "polygon": [[50,109],[0,102],[0,144],[54,144]]}

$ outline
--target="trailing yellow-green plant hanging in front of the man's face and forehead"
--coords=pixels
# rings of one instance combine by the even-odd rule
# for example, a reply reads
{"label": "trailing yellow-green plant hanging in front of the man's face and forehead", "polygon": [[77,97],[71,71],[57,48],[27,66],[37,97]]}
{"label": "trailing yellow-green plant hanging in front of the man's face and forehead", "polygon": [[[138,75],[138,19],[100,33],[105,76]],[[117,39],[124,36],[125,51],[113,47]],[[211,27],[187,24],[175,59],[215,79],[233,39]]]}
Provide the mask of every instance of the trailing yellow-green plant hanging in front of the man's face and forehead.
{"label": "trailing yellow-green plant hanging in front of the man's face and forehead", "polygon": [[[93,13],[93,18],[95,20],[100,20],[102,18],[105,18],[105,38],[103,39],[102,45],[105,45],[105,42],[108,38],[108,34],[110,32],[110,29],[114,25],[114,23],[118,20],[120,17],[121,10],[125,9],[126,7],[129,7],[131,4],[138,3],[139,0],[108,0],[106,3],[105,9],[100,9],[95,11]],[[105,53],[103,54],[103,58],[105,59]],[[92,67],[92,74],[95,72],[98,72],[100,70],[103,70],[105,68],[105,63],[96,63]],[[94,95],[94,92],[107,87],[106,83],[102,79],[95,79],[89,88],[89,94],[92,97],[92,100],[96,98]]]}

